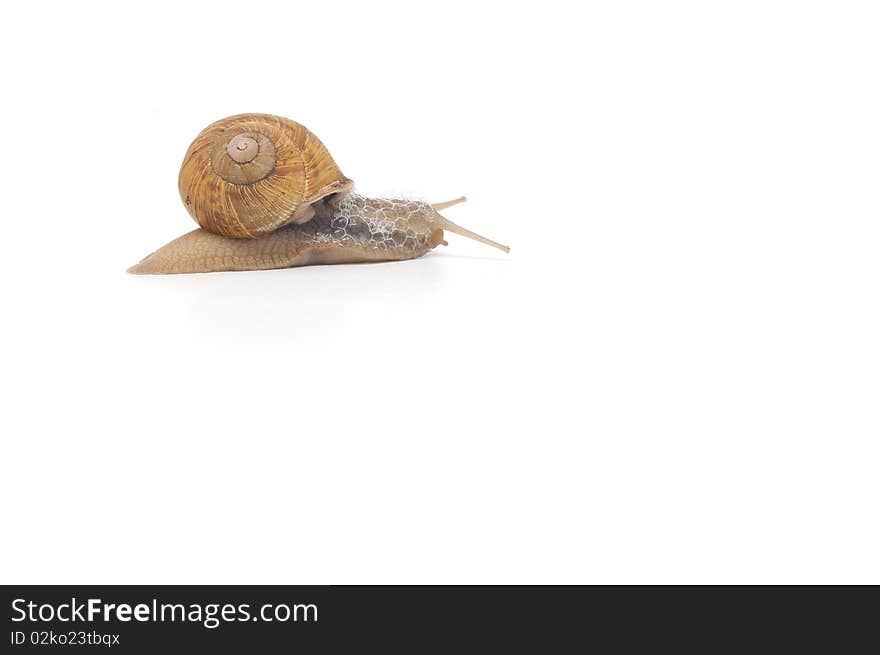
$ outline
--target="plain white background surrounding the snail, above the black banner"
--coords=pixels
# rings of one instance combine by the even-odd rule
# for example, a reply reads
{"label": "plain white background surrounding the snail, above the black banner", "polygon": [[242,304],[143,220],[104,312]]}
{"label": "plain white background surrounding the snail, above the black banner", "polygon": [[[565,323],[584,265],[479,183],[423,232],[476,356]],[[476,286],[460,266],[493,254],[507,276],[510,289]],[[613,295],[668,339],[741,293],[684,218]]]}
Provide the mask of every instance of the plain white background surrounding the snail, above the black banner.
{"label": "plain white background surrounding the snail, above the black banner", "polygon": [[[10,3],[7,583],[880,583],[864,2]],[[410,262],[125,269],[191,139],[466,194]]]}

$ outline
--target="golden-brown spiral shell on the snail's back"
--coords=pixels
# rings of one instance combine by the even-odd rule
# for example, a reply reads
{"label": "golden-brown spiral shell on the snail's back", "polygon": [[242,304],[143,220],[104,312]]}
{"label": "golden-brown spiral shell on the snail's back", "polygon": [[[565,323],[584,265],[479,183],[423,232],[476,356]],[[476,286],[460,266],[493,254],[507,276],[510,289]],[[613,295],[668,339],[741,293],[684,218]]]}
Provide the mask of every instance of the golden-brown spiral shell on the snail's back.
{"label": "golden-brown spiral shell on the snail's back", "polygon": [[230,116],[206,127],[187,150],[178,178],[196,222],[237,238],[307,221],[312,203],[352,186],[314,134],[270,114]]}

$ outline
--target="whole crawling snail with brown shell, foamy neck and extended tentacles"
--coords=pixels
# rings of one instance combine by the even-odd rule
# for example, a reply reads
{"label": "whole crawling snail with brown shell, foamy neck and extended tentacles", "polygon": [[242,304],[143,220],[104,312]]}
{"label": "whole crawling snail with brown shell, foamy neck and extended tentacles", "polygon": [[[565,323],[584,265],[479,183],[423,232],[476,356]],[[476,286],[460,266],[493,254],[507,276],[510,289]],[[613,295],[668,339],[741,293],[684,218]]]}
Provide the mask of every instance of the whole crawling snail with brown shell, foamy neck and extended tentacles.
{"label": "whole crawling snail with brown shell, foamy neck and extended tentacles", "polygon": [[420,257],[447,245],[444,230],[507,246],[439,214],[463,202],[366,198],[308,129],[241,114],[212,123],[190,145],[180,197],[199,228],[129,273],[207,273]]}

